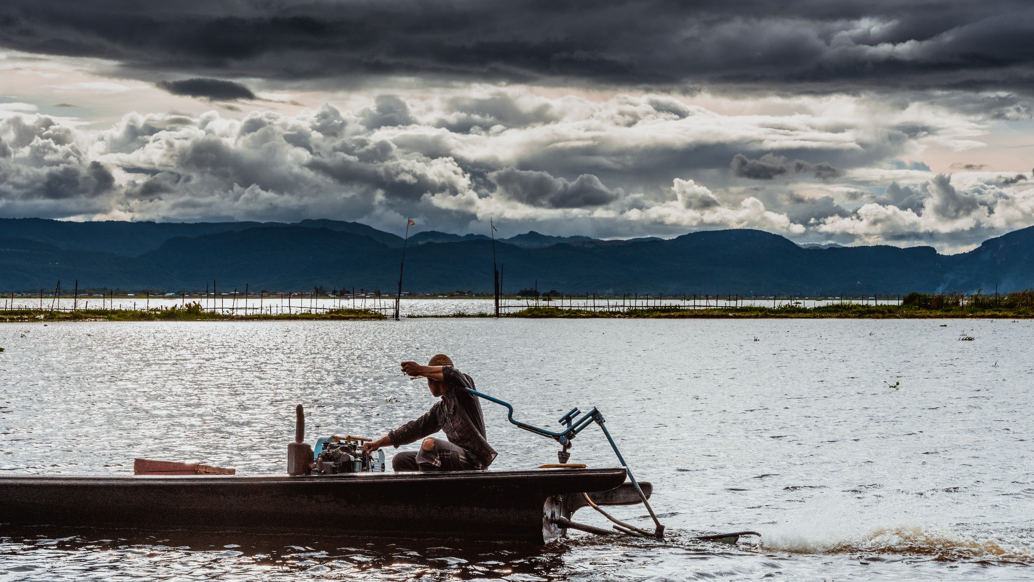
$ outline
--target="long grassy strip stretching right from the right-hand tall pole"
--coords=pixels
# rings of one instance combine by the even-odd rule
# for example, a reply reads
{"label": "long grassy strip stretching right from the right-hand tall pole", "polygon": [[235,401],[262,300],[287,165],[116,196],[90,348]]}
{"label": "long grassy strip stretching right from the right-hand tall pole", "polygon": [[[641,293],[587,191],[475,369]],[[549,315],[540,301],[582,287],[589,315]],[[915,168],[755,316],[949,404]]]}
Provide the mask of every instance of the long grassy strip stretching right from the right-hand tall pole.
{"label": "long grassy strip stretching right from the right-hand tall pole", "polygon": [[613,319],[1034,319],[1030,308],[953,307],[940,310],[915,305],[857,305],[833,303],[801,308],[744,307],[733,309],[643,308],[624,312],[527,308],[507,317]]}

